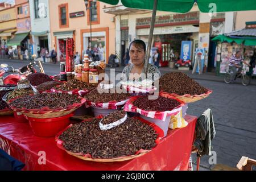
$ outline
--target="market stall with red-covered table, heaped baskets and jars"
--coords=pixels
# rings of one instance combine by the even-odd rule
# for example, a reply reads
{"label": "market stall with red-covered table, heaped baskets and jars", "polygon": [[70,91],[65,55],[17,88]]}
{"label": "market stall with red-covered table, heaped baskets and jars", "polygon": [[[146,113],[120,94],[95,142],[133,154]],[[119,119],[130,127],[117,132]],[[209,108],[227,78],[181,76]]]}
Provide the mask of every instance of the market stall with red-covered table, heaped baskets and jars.
{"label": "market stall with red-covered table, heaped baskets and jars", "polygon": [[33,73],[0,89],[1,149],[24,170],[187,170],[197,118],[186,110],[212,91],[181,72],[159,86],[146,79],[118,88],[99,78],[101,61],[85,55],[74,66],[72,39],[67,47],[59,75]]}

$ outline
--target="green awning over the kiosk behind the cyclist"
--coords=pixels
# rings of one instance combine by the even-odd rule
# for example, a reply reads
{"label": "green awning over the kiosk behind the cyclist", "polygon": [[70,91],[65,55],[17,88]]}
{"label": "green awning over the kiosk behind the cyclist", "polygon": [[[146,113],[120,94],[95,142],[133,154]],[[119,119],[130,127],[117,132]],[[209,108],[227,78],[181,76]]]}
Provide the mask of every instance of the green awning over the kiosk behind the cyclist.
{"label": "green awning over the kiosk behind the cyclist", "polygon": [[212,39],[213,42],[228,42],[232,43],[235,42],[237,44],[243,44],[245,46],[256,46],[256,38],[251,39],[248,37],[242,37],[241,38],[230,38],[229,36],[225,35],[218,35],[215,38]]}

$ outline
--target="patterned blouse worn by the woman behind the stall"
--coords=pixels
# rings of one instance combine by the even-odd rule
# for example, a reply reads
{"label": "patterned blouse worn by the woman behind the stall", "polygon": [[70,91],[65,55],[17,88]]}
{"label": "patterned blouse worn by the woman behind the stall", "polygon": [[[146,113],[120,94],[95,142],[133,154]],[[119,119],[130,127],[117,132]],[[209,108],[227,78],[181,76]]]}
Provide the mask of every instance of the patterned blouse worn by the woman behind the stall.
{"label": "patterned blouse worn by the woman behind the stall", "polygon": [[[134,80],[129,80],[129,74],[131,73],[131,69],[133,69],[134,65],[133,64],[129,64],[127,65],[125,68],[123,68],[123,72],[122,72],[122,81],[142,81],[142,77],[140,76],[137,79]],[[144,73],[144,69],[142,73]],[[158,69],[158,67],[156,67],[155,65],[152,64],[148,64],[148,69],[147,69],[147,78],[148,79],[152,79],[152,81],[159,79],[161,76],[161,73]],[[144,80],[144,78],[143,78]]]}

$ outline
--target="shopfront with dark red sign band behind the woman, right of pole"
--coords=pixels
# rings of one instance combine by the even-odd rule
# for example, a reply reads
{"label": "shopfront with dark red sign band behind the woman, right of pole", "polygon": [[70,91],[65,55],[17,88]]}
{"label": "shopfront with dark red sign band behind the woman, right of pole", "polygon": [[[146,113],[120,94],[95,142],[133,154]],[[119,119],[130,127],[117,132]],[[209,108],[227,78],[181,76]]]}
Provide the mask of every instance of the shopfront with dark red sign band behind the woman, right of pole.
{"label": "shopfront with dark red sign band behind the woman, right of pole", "polygon": [[[151,18],[136,19],[137,37],[148,43]],[[160,67],[166,67],[170,61],[171,49],[175,54],[175,59],[182,58],[181,44],[189,41],[191,44],[190,60],[193,60],[193,52],[198,45],[199,36],[199,12],[192,12],[179,16],[177,14],[156,16],[153,46],[159,49],[161,59]],[[154,48],[153,48],[154,49]]]}

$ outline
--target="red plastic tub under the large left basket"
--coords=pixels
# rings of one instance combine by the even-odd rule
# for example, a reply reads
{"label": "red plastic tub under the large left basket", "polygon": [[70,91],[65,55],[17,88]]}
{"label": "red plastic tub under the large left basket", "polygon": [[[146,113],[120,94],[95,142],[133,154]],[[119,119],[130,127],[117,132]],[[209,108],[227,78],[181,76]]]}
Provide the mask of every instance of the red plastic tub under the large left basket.
{"label": "red plastic tub under the large left basket", "polygon": [[65,129],[69,125],[69,118],[73,113],[64,115],[57,118],[30,118],[27,117],[30,122],[33,133],[38,137],[54,137],[59,131]]}

